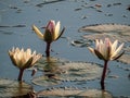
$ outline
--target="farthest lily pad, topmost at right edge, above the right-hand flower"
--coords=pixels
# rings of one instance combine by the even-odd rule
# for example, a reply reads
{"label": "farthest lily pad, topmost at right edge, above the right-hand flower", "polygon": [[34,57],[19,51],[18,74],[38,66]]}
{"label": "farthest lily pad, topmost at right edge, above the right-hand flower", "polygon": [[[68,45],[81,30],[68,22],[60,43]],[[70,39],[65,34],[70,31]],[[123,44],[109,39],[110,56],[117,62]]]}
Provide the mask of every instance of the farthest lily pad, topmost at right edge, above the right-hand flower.
{"label": "farthest lily pad, topmost at right edge, above the right-hand flower", "polygon": [[79,32],[118,33],[120,35],[129,35],[130,36],[130,26],[121,25],[121,24],[94,24],[94,25],[83,26],[79,29]]}

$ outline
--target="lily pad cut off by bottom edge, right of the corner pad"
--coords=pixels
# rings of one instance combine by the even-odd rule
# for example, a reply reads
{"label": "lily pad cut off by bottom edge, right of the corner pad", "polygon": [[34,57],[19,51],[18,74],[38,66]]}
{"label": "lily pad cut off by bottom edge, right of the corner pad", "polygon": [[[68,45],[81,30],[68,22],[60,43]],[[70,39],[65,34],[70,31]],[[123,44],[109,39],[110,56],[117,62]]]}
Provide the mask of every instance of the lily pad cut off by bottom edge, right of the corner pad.
{"label": "lily pad cut off by bottom edge, right of the corner pad", "polygon": [[39,96],[64,96],[64,97],[87,97],[87,98],[113,98],[113,96],[99,89],[75,89],[75,88],[53,88],[50,90],[42,90]]}

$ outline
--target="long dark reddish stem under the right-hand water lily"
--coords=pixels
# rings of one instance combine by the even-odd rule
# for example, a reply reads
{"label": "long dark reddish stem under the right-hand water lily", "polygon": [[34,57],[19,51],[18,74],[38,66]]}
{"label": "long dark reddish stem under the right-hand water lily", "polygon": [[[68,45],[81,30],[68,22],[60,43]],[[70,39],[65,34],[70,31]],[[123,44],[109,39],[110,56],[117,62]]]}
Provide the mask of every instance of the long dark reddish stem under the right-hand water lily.
{"label": "long dark reddish stem under the right-hand water lily", "polygon": [[102,78],[101,78],[101,87],[102,87],[103,90],[105,89],[105,87],[104,87],[104,79],[105,79],[106,70],[107,70],[107,63],[108,63],[107,60],[104,61],[104,69],[103,69]]}

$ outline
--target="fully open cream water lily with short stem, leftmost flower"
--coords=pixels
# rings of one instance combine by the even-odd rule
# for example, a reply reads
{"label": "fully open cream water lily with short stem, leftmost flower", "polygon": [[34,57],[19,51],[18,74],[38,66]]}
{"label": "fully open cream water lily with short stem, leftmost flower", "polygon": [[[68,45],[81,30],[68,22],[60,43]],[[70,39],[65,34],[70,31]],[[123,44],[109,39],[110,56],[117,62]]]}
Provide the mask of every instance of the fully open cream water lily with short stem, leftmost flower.
{"label": "fully open cream water lily with short stem, leftmost flower", "polygon": [[20,69],[18,81],[22,81],[24,70],[34,66],[41,58],[40,53],[37,54],[36,51],[31,52],[29,48],[24,50],[23,48],[20,49],[14,47],[12,50],[9,50],[9,56],[12,63]]}

